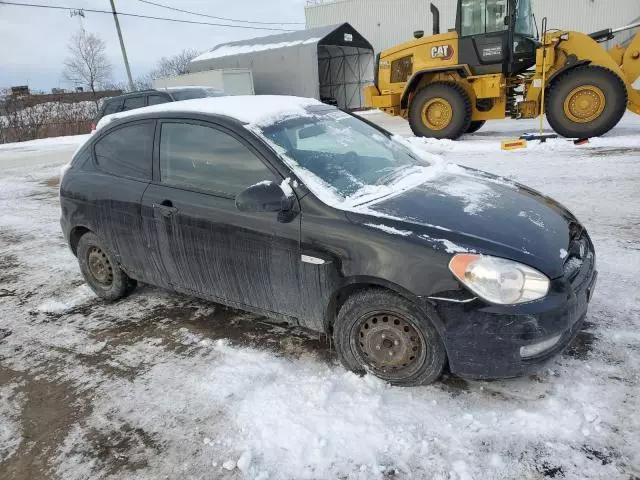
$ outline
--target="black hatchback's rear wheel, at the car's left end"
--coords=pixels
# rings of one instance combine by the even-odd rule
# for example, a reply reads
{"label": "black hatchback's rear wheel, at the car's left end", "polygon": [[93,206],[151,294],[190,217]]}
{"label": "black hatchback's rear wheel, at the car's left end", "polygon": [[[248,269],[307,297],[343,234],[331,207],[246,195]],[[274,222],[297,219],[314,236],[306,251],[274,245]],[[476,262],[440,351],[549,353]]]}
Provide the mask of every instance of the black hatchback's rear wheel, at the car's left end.
{"label": "black hatchback's rear wheel, at the car's left end", "polygon": [[89,287],[108,301],[125,297],[135,288],[116,260],[92,232],[85,233],[78,242],[78,264]]}

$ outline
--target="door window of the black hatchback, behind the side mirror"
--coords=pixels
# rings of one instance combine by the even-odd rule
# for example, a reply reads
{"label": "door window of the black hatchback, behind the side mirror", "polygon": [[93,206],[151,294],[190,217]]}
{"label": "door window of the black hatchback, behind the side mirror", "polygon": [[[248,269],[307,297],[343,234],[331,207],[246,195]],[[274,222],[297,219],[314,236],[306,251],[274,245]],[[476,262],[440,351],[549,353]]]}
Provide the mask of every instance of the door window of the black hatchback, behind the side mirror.
{"label": "door window of the black hatchback, behind the side mirror", "polygon": [[163,123],[160,135],[163,183],[234,196],[276,176],[231,135],[204,125]]}

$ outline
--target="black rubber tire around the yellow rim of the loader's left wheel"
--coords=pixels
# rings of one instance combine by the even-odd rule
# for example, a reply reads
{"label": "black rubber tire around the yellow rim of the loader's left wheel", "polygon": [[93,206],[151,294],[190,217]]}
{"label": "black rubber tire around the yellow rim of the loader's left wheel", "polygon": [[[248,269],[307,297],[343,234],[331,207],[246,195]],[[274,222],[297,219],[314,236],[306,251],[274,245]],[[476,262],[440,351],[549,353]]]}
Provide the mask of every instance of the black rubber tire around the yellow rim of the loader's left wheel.
{"label": "black rubber tire around the yellow rim of the loader's left wheel", "polygon": [[[450,119],[441,128],[434,128],[423,121],[423,109],[429,102],[441,99],[450,106]],[[432,83],[421,89],[409,105],[409,125],[418,137],[447,138],[455,140],[469,129],[471,101],[464,89],[455,83]]]}

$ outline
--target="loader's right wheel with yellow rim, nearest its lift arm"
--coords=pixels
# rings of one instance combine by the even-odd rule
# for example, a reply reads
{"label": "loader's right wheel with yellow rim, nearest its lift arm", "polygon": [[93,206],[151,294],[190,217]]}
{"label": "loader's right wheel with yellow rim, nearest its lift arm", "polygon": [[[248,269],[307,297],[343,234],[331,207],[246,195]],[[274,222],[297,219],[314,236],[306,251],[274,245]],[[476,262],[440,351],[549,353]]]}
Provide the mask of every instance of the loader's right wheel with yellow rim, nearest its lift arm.
{"label": "loader's right wheel with yellow rim, nearest its lift arm", "polygon": [[[571,99],[580,95],[581,86],[589,87],[596,103],[593,113],[576,110],[572,118],[572,109],[576,107],[572,106]],[[593,87],[599,92],[594,92]],[[599,93],[604,96],[604,102]],[[568,138],[604,135],[618,124],[626,108],[627,88],[620,77],[606,68],[588,65],[573,68],[556,78],[548,87],[545,101],[549,124],[558,134]]]}

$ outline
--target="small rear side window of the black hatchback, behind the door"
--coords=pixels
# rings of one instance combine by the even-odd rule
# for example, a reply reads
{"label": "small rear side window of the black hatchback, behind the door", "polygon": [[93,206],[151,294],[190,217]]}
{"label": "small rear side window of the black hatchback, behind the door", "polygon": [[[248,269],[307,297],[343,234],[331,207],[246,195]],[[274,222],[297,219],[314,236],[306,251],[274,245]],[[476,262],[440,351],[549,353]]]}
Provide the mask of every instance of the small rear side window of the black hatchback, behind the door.
{"label": "small rear side window of the black hatchback, behind the door", "polygon": [[151,180],[155,122],[125,125],[109,132],[94,147],[96,164],[118,177]]}

